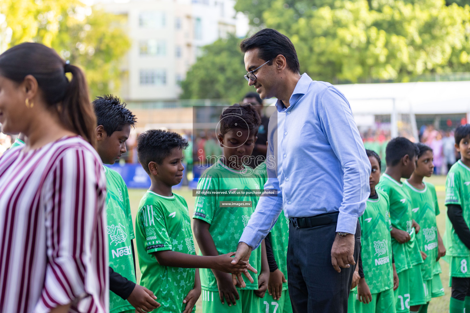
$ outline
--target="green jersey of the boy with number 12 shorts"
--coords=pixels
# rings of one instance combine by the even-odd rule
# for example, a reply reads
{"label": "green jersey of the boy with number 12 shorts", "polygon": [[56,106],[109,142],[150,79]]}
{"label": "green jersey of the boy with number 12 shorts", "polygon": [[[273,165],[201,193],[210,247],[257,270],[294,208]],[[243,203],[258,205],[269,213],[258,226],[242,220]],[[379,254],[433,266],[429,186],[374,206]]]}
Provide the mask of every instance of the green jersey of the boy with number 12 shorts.
{"label": "green jersey of the boy with number 12 shorts", "polygon": [[[413,221],[410,200],[407,191],[403,188],[403,184],[398,183],[387,174],[383,174],[376,189],[385,191],[388,195],[392,226],[412,234],[414,229],[411,227]],[[392,250],[397,273],[412,267],[411,247],[408,243],[400,244],[392,237]]]}

